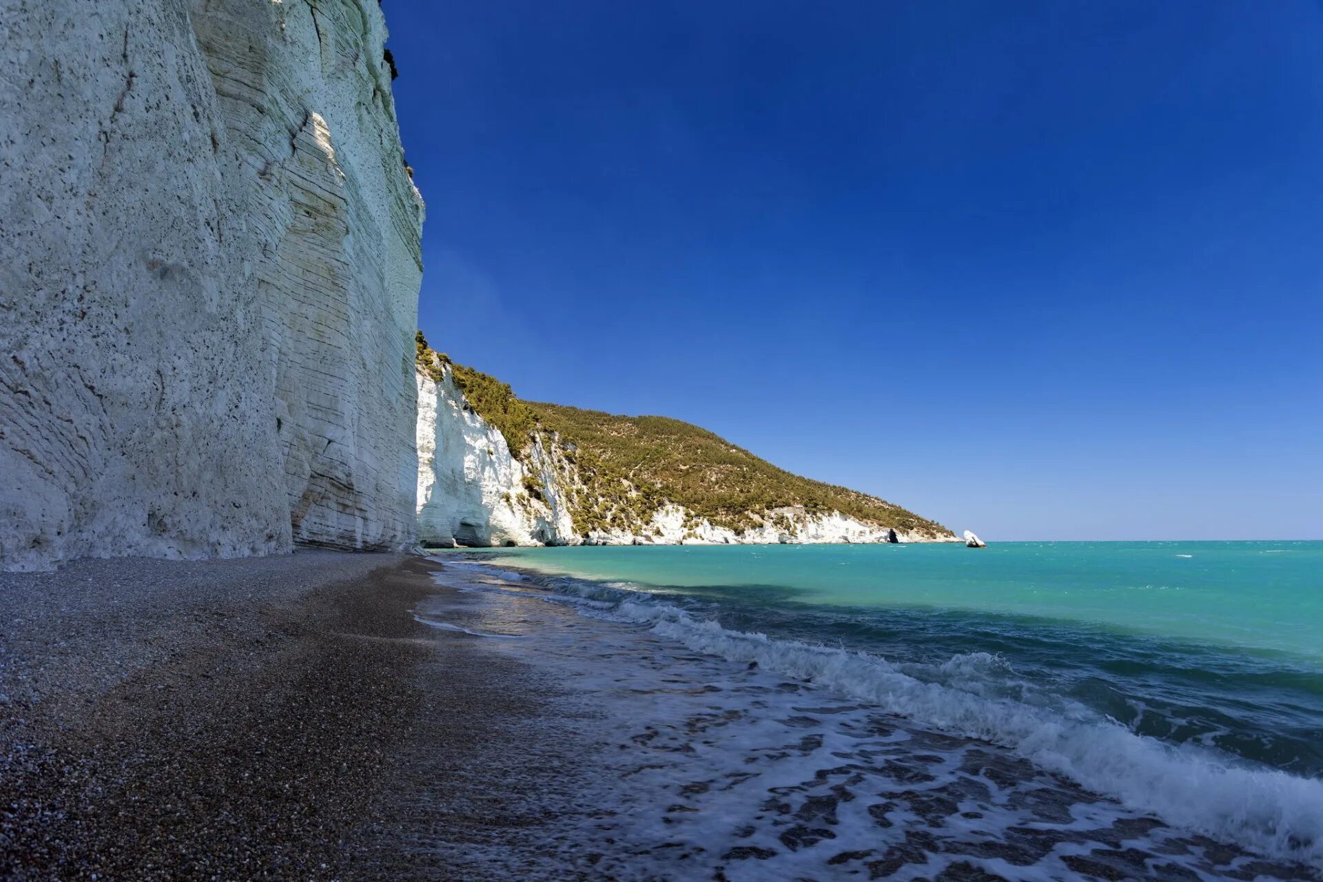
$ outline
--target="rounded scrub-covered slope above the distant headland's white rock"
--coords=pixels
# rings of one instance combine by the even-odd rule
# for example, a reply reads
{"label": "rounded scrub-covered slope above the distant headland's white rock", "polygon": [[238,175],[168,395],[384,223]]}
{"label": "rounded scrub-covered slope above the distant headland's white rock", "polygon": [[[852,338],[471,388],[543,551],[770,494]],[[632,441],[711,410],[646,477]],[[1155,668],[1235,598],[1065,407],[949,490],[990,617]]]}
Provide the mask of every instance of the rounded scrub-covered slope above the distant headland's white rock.
{"label": "rounded scrub-covered slope above the distant headland's white rock", "polygon": [[536,402],[528,406],[545,428],[579,447],[581,469],[585,456],[590,458],[598,471],[597,483],[624,479],[639,488],[651,488],[650,496],[664,496],[718,526],[744,529],[755,524],[750,513],[803,506],[810,513],[836,510],[904,532],[947,532],[867,493],[791,475],[679,419],[617,417]]}

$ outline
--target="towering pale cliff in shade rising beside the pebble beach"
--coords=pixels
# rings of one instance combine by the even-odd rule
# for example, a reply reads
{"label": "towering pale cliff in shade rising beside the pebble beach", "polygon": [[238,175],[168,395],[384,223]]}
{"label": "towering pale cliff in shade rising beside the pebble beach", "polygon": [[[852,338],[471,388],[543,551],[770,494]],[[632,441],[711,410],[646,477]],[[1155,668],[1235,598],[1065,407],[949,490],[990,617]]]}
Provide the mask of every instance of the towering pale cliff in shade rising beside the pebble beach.
{"label": "towering pale cliff in shade rising beside the pebble beach", "polygon": [[0,4],[0,563],[413,541],[370,0]]}

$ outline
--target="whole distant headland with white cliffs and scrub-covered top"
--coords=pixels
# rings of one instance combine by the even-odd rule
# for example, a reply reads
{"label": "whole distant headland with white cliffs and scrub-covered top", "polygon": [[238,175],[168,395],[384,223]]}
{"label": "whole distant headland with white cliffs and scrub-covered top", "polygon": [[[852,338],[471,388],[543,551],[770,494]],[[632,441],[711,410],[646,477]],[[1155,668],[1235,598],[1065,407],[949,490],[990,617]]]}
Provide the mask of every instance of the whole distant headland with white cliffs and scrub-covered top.
{"label": "whole distant headland with white cliffs and scrub-covered top", "polygon": [[689,423],[520,401],[418,335],[418,538],[433,546],[958,542]]}

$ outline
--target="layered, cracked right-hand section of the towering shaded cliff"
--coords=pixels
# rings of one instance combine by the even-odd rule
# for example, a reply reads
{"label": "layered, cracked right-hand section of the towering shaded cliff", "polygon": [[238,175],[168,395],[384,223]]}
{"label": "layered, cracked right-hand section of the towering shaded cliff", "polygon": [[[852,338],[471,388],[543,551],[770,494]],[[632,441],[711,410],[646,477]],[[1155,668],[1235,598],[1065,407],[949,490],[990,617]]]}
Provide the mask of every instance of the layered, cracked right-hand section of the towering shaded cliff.
{"label": "layered, cracked right-hand section of the towering shaded cliff", "polygon": [[194,0],[262,304],[295,542],[414,534],[422,200],[377,3]]}

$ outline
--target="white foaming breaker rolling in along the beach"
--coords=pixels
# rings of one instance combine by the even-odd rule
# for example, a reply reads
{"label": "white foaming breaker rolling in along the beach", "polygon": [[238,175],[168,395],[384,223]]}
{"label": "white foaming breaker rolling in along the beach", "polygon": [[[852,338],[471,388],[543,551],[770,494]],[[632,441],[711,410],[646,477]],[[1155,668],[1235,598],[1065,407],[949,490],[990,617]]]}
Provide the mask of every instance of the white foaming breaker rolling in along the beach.
{"label": "white foaming breaker rolling in along the beach", "polygon": [[1007,673],[998,656],[955,656],[919,678],[913,676],[918,673],[913,664],[732,631],[627,583],[565,577],[533,577],[528,583],[550,588],[546,599],[586,615],[644,624],[689,649],[757,662],[921,725],[1002,744],[1046,771],[1171,824],[1263,854],[1323,865],[1323,782],[1254,767],[1197,744],[1138,735],[1074,702],[998,697]]}

